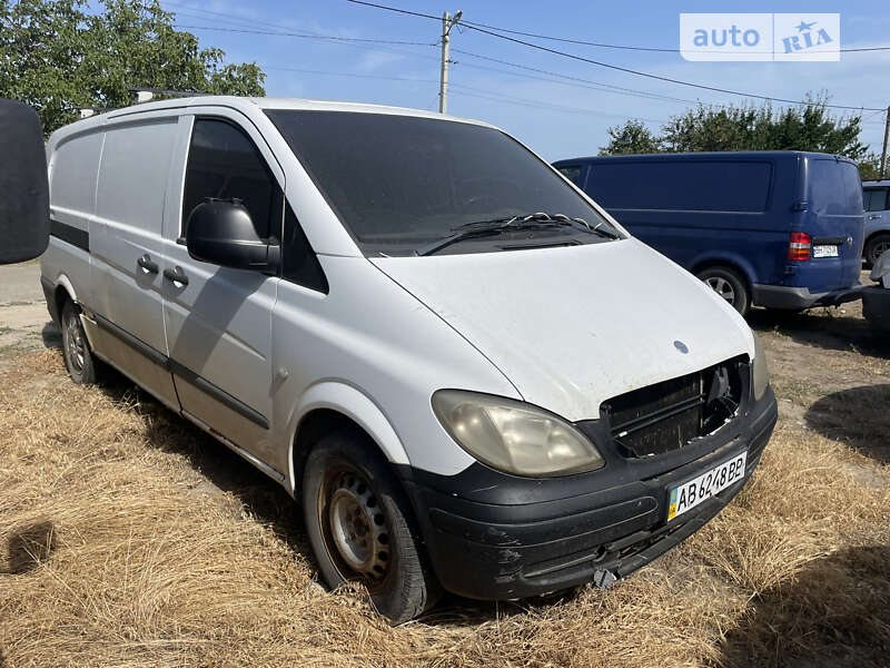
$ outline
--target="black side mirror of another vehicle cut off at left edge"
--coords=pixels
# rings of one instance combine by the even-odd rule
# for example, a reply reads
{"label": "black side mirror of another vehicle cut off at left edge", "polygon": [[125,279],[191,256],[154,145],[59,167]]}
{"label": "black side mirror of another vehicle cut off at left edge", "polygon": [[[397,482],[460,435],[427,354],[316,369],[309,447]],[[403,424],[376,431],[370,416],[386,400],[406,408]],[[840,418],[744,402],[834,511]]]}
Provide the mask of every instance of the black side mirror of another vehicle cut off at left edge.
{"label": "black side mirror of another vehicle cut off at left edge", "polygon": [[0,99],[0,264],[33,259],[49,243],[47,151],[40,118]]}

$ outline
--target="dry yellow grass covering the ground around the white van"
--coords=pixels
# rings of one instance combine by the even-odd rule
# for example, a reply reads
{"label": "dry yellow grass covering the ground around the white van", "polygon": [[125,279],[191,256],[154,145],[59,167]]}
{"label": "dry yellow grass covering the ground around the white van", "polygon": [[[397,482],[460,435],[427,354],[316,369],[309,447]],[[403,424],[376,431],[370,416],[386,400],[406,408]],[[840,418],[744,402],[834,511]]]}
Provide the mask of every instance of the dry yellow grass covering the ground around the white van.
{"label": "dry yellow grass covering the ground around the white van", "polygon": [[890,473],[809,431],[780,428],[721,517],[611,591],[398,628],[312,586],[296,508],[221,448],[126,383],[72,385],[56,351],[0,373],[0,666],[890,660]]}

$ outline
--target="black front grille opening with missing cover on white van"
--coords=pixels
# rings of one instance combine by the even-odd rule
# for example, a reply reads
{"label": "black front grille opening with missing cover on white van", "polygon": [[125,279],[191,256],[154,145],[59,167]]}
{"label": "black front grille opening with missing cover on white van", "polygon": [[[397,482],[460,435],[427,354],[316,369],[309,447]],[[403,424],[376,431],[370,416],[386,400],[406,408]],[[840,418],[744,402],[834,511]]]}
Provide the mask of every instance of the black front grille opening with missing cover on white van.
{"label": "black front grille opening with missing cover on white van", "polygon": [[651,456],[710,434],[739,410],[745,358],[633,390],[603,402],[612,439],[625,456]]}

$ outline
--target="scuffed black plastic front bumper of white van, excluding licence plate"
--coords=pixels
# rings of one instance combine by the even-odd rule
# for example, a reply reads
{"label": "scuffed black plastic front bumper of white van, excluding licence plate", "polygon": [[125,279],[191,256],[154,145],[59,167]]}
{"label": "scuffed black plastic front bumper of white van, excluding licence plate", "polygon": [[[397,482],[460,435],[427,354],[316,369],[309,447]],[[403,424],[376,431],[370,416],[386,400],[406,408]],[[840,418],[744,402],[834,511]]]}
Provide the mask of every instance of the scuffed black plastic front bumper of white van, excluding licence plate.
{"label": "scuffed black plastic front bumper of white van, excluding licence plate", "polygon": [[[649,473],[642,477],[632,466],[609,465],[552,479],[482,464],[454,477],[409,466],[399,473],[442,586],[468,598],[520,599],[591,580],[609,586],[692,536],[749,480],[775,420],[769,390],[744,415],[688,445],[696,454],[692,461],[672,465],[682,451],[647,458],[635,469]],[[748,463],[740,482],[666,522],[671,487],[743,448]]]}

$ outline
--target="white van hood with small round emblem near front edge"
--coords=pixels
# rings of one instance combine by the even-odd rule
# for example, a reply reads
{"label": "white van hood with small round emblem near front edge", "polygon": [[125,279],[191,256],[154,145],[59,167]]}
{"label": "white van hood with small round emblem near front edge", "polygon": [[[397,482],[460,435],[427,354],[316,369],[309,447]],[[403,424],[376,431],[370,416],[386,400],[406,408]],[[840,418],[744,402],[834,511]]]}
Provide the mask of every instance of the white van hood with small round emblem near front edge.
{"label": "white van hood with small round emblem near front edge", "polygon": [[624,392],[754,354],[731,306],[634,238],[370,262],[525,401],[571,421],[599,418],[600,404]]}

